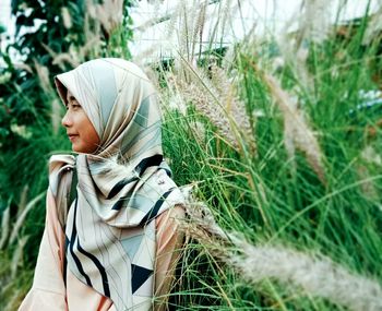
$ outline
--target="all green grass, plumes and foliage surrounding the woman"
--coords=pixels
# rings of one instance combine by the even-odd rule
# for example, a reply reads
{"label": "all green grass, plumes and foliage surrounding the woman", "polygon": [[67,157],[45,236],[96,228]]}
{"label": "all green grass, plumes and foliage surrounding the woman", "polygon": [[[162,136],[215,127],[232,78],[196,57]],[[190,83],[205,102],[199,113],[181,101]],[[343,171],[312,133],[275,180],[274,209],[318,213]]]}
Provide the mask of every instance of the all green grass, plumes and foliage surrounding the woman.
{"label": "all green grass, plumes and foliage surrounding the woman", "polygon": [[[70,152],[52,76],[95,57],[131,58],[130,4],[117,2],[12,2],[20,29],[43,22],[1,51],[1,310],[32,284],[47,159]],[[202,55],[202,2],[179,1],[179,53],[146,67],[166,157],[194,193],[174,309],[381,310],[379,16],[320,36],[306,19],[282,39],[250,34]]]}

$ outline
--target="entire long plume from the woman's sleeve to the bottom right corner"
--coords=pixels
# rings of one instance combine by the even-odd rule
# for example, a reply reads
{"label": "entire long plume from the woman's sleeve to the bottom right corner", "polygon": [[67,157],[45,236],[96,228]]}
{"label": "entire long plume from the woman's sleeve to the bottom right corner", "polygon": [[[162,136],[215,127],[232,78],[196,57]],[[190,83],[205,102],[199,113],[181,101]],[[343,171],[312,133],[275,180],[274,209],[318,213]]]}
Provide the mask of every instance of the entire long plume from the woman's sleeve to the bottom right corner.
{"label": "entire long plume from the woman's sleeve to the bottom right corner", "polygon": [[349,310],[382,310],[382,287],[375,280],[353,274],[327,256],[285,247],[253,246],[238,232],[225,232],[206,204],[196,202],[190,191],[184,196],[189,222],[180,223],[182,229],[248,282],[255,285],[271,278]]}

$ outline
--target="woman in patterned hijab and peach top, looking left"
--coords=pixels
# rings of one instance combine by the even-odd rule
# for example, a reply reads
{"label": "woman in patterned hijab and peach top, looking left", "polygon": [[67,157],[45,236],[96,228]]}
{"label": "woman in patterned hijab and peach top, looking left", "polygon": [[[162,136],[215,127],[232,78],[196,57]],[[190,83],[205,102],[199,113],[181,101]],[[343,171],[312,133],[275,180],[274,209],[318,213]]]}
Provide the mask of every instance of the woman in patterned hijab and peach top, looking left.
{"label": "woman in patterned hijab and peach top, looking left", "polygon": [[151,310],[169,291],[183,216],[156,93],[136,65],[112,58],[55,82],[79,155],[50,159],[46,228],[20,310]]}

